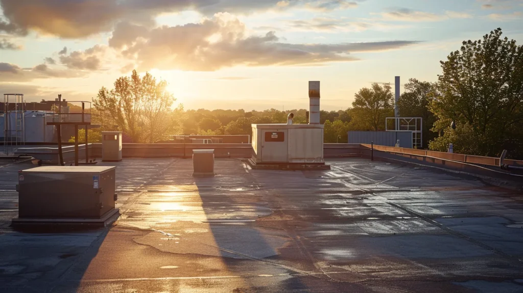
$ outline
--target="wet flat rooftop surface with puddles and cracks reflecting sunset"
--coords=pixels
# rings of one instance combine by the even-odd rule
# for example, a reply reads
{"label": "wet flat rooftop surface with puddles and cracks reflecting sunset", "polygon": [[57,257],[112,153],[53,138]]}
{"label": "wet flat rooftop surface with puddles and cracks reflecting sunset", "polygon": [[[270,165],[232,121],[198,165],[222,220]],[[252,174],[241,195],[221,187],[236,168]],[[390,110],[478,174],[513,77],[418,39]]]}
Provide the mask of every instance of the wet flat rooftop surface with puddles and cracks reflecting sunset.
{"label": "wet flat rooftop surface with puddles and cracks reflecting sunset", "polygon": [[117,163],[119,220],[17,232],[0,161],[1,292],[523,292],[523,195],[361,158],[329,171]]}

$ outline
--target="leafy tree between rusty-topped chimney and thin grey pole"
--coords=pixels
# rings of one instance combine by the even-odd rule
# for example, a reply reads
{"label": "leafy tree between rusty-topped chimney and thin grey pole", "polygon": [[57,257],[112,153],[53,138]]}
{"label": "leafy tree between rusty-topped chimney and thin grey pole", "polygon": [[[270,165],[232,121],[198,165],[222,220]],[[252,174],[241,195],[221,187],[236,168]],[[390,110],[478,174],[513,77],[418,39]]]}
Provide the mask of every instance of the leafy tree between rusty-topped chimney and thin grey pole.
{"label": "leafy tree between rusty-topped chimney and thin grey pole", "polygon": [[352,130],[385,130],[385,118],[394,114],[394,95],[390,85],[372,84],[355,95],[350,111]]}

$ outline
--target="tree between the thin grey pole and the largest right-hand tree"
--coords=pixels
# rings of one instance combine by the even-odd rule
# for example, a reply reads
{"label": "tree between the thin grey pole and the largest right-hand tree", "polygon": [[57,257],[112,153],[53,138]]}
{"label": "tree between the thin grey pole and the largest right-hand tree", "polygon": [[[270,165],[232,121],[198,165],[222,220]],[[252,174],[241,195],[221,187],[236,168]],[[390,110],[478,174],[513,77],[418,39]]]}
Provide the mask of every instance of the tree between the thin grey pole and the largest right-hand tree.
{"label": "tree between the thin grey pole and the largest right-hand tree", "polygon": [[405,84],[405,91],[402,93],[398,102],[400,115],[402,117],[423,118],[423,146],[428,146],[428,142],[436,138],[437,133],[430,131],[434,127],[436,117],[430,111],[429,104],[436,92],[436,84],[428,81],[419,81],[415,78],[408,80]]}

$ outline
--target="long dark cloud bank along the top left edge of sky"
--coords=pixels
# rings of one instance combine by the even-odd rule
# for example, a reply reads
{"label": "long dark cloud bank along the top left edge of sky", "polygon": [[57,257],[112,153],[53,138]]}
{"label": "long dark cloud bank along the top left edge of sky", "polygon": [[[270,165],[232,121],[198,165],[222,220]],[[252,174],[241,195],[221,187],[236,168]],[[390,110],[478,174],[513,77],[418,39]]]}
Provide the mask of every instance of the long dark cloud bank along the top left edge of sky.
{"label": "long dark cloud bank along the top left edge of sky", "polygon": [[[356,0],[362,1],[362,0]],[[6,21],[0,31],[27,34],[29,30],[62,38],[83,38],[110,31],[117,22],[151,26],[162,13],[196,10],[204,15],[221,11],[252,13],[268,9],[305,6],[332,10],[354,7],[346,0],[0,0]]]}

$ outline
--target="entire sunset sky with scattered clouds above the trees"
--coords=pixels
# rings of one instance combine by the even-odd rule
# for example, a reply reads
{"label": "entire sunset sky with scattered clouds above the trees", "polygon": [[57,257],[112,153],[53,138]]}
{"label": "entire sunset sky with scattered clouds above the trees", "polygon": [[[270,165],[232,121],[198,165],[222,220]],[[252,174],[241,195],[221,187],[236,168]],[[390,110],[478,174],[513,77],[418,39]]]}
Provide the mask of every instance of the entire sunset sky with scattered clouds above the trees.
{"label": "entire sunset sky with scattered clouds above the trees", "polygon": [[0,91],[90,100],[133,69],[186,109],[322,109],[496,28],[523,44],[523,0],[0,0]]}

